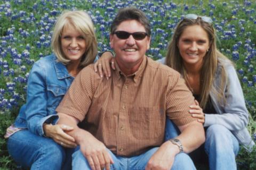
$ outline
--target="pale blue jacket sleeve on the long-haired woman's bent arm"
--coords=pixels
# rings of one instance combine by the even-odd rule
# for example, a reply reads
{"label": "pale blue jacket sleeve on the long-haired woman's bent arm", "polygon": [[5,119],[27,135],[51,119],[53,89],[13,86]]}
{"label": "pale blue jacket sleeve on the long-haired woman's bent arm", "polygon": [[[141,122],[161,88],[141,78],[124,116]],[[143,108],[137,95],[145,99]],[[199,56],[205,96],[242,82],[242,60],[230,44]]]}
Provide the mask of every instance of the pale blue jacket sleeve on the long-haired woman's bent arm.
{"label": "pale blue jacket sleeve on the long-haired woman's bent arm", "polygon": [[237,131],[246,127],[249,121],[249,115],[235,68],[230,64],[225,69],[228,79],[225,90],[226,104],[222,106],[218,102],[217,96],[212,94],[213,105],[218,114],[205,114],[204,126],[220,124],[227,127],[230,131]]}

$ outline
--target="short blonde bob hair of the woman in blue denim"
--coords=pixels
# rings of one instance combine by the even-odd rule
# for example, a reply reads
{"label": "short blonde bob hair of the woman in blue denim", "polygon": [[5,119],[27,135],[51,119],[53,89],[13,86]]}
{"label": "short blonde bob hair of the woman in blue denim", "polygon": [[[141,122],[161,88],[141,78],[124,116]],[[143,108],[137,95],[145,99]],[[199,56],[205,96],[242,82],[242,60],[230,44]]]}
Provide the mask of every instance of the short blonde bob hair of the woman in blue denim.
{"label": "short blonde bob hair of the woman in blue denim", "polygon": [[98,51],[94,25],[90,16],[84,11],[64,11],[55,22],[52,34],[52,51],[57,56],[58,61],[68,64],[70,60],[66,58],[61,48],[61,36],[64,27],[74,28],[85,39],[86,50],[79,67],[93,63]]}

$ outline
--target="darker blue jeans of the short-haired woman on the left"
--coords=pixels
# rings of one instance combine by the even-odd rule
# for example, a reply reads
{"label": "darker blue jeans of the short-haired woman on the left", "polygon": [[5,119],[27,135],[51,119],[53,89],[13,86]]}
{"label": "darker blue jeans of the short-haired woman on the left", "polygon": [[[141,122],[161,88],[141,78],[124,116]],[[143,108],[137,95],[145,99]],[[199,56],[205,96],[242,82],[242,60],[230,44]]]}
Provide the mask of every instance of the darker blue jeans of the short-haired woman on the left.
{"label": "darker blue jeans of the short-haired woman on the left", "polygon": [[14,161],[24,168],[71,169],[74,149],[63,148],[52,139],[37,136],[26,129],[10,136],[7,148]]}

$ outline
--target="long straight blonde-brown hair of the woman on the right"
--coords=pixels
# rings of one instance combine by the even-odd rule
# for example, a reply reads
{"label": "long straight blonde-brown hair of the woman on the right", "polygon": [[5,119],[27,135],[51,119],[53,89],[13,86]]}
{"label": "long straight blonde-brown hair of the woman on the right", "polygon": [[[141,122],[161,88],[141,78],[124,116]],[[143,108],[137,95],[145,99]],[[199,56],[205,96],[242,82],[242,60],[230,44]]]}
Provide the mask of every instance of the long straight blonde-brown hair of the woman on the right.
{"label": "long straight blonde-brown hair of the woman on the right", "polygon": [[[167,49],[166,55],[166,65],[179,71],[183,78],[188,82],[188,75],[185,66],[179,52],[178,42],[183,31],[189,27],[198,25],[201,26],[207,33],[209,38],[209,51],[204,56],[203,64],[200,72],[200,107],[205,108],[207,100],[209,99],[210,91],[213,89],[213,92],[217,94],[218,101],[226,102],[224,88],[225,82],[227,82],[226,71],[221,64],[221,61],[218,58],[226,58],[222,53],[217,50],[216,39],[215,39],[215,30],[211,23],[203,21],[201,18],[197,19],[183,19],[181,20],[177,27],[175,28],[174,34],[172,36],[171,42]],[[228,60],[228,59],[227,59]],[[221,72],[221,85],[218,86],[219,89],[215,89],[213,86],[215,73],[217,72],[217,66],[220,66]],[[187,83],[188,84],[188,83]],[[223,103],[223,102],[221,102]]]}

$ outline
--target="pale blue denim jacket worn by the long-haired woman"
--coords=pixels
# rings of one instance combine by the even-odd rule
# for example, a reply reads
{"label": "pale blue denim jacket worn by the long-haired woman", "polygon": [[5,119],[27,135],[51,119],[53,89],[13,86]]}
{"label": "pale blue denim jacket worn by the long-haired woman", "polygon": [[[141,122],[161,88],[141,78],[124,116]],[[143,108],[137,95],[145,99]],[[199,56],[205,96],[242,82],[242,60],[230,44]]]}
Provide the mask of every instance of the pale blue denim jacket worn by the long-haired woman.
{"label": "pale blue denim jacket worn by the long-haired woman", "polygon": [[[236,136],[240,144],[243,144],[246,149],[251,150],[255,143],[246,128],[249,122],[249,114],[245,106],[241,84],[239,83],[233,64],[231,64],[229,60],[219,60],[227,74],[227,81],[224,84],[226,104],[222,104],[218,101],[218,96],[214,93],[212,88],[210,91],[210,98],[217,114],[205,113],[204,127],[211,126],[213,124],[223,125]],[[165,64],[165,58],[158,60],[158,62]],[[218,86],[221,84],[220,68],[221,65],[218,66],[217,72],[215,73],[213,83],[215,89],[219,89]]]}

